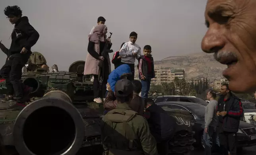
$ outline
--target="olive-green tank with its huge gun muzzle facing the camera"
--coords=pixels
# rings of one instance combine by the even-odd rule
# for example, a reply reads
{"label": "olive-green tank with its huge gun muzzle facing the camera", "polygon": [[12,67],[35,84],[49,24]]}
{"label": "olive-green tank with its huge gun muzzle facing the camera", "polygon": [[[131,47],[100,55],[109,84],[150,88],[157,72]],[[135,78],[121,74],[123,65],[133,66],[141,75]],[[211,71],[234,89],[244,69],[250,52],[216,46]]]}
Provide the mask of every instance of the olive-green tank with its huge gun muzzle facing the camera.
{"label": "olive-green tank with its huge gun muzzle facing the camera", "polygon": [[[31,102],[27,102],[28,105],[24,109],[9,109],[9,106],[15,102],[0,103],[1,146],[8,146],[8,148],[15,146],[20,155],[31,151],[36,155],[55,155],[62,152],[63,155],[74,155],[78,149],[81,151],[81,148],[83,152],[87,153],[88,151],[102,151],[99,124],[103,110],[100,109],[99,104],[92,102],[93,83],[89,79],[83,78],[85,61],[72,63],[67,71],[47,72],[40,68],[46,64],[43,55],[33,52],[29,63],[34,69],[24,72],[21,81],[33,88],[30,96]],[[6,94],[4,81],[0,83],[0,93]],[[64,121],[64,115],[66,115],[66,121]],[[82,126],[81,121],[80,125],[76,125],[77,121],[70,119],[71,117],[68,115],[72,118],[76,116],[76,120],[80,120],[81,117]],[[22,125],[26,120],[31,123]],[[51,126],[51,130],[45,129],[48,126]],[[62,128],[60,129],[60,127]],[[83,129],[83,134],[78,132],[78,128]],[[44,130],[46,131],[44,132]],[[60,132],[57,133],[58,135],[53,141],[49,141],[49,135],[55,134],[51,132],[52,130],[63,130],[68,135]],[[62,139],[58,141],[61,136]],[[40,148],[34,145],[35,143],[42,146],[43,143],[46,143],[48,146],[58,147],[58,149],[52,149],[53,151],[50,152],[51,150]]]}

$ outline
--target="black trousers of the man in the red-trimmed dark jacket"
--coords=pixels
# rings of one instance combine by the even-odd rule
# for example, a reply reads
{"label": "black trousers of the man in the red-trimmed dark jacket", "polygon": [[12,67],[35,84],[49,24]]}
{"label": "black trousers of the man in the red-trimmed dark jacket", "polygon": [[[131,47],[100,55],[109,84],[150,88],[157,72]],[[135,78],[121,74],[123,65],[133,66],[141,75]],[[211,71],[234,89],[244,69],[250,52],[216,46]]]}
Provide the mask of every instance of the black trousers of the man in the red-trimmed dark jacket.
{"label": "black trousers of the man in the red-trimmed dark jacket", "polygon": [[237,155],[237,133],[235,132],[220,132],[219,143],[221,147],[221,153],[228,155],[228,150],[231,155]]}

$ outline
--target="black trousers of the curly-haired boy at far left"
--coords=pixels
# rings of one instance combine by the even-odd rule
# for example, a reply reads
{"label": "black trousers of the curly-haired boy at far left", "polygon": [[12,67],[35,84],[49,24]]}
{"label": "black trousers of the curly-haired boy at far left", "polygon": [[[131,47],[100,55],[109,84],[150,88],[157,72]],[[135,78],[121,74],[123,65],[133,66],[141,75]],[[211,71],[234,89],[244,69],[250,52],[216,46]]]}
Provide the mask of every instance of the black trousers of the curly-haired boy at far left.
{"label": "black trousers of the curly-haired boy at far left", "polygon": [[24,63],[21,58],[11,58],[6,61],[0,70],[1,76],[6,80],[7,95],[16,95],[17,101],[23,98],[23,85],[20,81]]}

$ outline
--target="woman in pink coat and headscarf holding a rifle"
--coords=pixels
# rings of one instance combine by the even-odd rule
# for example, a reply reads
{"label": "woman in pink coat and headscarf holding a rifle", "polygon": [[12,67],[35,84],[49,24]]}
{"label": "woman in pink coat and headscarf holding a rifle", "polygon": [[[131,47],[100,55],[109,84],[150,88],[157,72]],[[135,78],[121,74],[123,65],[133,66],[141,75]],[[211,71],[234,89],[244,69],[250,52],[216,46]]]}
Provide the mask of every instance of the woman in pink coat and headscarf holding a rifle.
{"label": "woman in pink coat and headscarf holding a rifle", "polygon": [[[87,54],[86,60],[85,60],[85,68],[84,68],[84,75],[93,75],[93,94],[94,94],[94,102],[102,103],[101,97],[105,96],[106,88],[100,88],[100,81],[99,81],[99,75],[100,75],[100,68],[98,66],[99,61],[102,60],[104,63],[104,68],[101,68],[101,70],[104,70],[105,75],[103,75],[103,84],[102,86],[105,86],[107,84],[108,76],[111,72],[111,64],[109,57],[105,59],[103,56],[101,56],[101,53],[105,47],[105,42],[107,40],[107,26],[100,24],[95,26],[93,30],[93,34],[89,36],[89,43],[87,51],[89,54]],[[112,43],[111,43],[112,45]],[[109,45],[109,49],[111,48],[111,45]],[[104,90],[104,92],[103,92]]]}

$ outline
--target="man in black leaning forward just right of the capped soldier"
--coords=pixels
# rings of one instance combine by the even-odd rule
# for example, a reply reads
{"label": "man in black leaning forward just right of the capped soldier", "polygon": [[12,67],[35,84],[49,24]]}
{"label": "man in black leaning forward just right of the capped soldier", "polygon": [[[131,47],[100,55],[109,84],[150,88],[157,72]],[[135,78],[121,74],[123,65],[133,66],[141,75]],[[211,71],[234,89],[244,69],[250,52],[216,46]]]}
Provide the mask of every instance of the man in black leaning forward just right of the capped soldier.
{"label": "man in black leaning forward just right of the capped soldier", "polygon": [[169,141],[176,129],[176,119],[157,106],[152,99],[147,98],[144,102],[146,108],[144,117],[157,142],[157,151],[159,155],[168,155]]}

